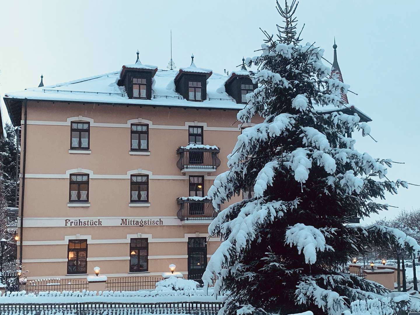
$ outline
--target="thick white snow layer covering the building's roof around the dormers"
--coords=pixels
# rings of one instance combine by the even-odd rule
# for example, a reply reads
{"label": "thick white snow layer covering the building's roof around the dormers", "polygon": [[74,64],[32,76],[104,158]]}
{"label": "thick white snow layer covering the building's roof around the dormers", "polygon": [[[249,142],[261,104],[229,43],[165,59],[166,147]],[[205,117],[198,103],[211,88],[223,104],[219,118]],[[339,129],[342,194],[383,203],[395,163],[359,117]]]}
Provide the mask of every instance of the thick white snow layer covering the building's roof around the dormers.
{"label": "thick white snow layer covering the building's roof around the dormers", "polygon": [[[207,71],[207,69],[205,70]],[[234,110],[241,110],[244,107],[244,104],[236,104],[235,100],[225,92],[224,83],[227,78],[226,75],[212,74],[207,79],[207,100],[203,102],[191,102],[185,100],[175,91],[174,79],[177,74],[177,70],[157,70],[152,79],[151,100],[129,99],[124,87],[119,87],[116,84],[120,71],[50,86],[29,88],[19,92],[6,93],[5,100],[27,98],[29,100],[141,104]],[[223,88],[220,89],[220,87]]]}

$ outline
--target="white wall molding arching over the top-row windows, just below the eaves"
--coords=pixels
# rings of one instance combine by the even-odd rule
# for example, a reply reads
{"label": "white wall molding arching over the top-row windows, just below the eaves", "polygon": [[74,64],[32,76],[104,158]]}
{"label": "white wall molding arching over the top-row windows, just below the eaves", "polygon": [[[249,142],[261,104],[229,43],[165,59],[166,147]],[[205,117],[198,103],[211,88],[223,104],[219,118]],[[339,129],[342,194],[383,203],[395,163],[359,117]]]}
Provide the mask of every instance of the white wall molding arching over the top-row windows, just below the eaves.
{"label": "white wall molding arching over the top-row windows, just below the eaves", "polygon": [[[75,116],[69,117],[66,121],[39,121],[39,120],[28,120],[26,123],[28,125],[45,125],[45,126],[70,126],[72,121],[89,121],[91,127],[108,127],[108,128],[131,128],[132,123],[147,123],[150,129],[176,129],[176,130],[188,130],[189,126],[203,126],[204,130],[208,131],[240,131],[241,127],[253,126],[252,123],[239,123],[236,127],[211,127],[207,126],[205,122],[198,121],[186,121],[184,126],[177,125],[154,125],[152,121],[135,118],[130,119],[126,123],[95,123],[93,118],[85,116]],[[24,124],[24,121],[21,121],[21,124]]]}

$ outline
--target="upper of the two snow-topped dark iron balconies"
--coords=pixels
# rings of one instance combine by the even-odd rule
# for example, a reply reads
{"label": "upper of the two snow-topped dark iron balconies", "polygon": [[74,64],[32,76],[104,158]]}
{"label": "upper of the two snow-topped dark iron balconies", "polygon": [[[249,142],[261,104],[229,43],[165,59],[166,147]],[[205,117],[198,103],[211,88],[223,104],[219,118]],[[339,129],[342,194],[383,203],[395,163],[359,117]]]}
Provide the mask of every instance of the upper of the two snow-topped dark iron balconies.
{"label": "upper of the two snow-topped dark iron balconies", "polygon": [[176,166],[181,172],[214,172],[220,166],[218,153],[220,149],[216,146],[189,144],[186,147],[179,147],[176,154],[179,160]]}

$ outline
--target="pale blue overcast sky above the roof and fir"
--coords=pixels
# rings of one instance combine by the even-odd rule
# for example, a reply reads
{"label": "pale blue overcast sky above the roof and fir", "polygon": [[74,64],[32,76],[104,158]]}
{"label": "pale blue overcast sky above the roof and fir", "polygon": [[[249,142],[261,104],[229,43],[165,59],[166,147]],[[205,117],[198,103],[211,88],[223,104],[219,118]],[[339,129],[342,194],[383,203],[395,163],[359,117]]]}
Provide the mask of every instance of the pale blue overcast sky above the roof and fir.
{"label": "pale blue overcast sky above the roof and fir", "polygon": [[[281,1],[281,0],[280,0]],[[290,1],[289,1],[290,2]],[[213,72],[232,71],[242,56],[258,55],[263,34],[276,33],[281,18],[274,0],[155,1],[3,1],[0,18],[0,94],[56,84],[134,63]],[[373,157],[391,158],[388,178],[420,184],[420,107],[417,40],[420,1],[301,0],[297,9],[304,42],[316,42],[332,62],[333,40],[349,102],[370,115],[371,135],[356,148]],[[1,100],[5,112],[3,99]],[[386,203],[398,207],[373,215],[392,218],[399,210],[420,208],[420,187],[410,185]]]}

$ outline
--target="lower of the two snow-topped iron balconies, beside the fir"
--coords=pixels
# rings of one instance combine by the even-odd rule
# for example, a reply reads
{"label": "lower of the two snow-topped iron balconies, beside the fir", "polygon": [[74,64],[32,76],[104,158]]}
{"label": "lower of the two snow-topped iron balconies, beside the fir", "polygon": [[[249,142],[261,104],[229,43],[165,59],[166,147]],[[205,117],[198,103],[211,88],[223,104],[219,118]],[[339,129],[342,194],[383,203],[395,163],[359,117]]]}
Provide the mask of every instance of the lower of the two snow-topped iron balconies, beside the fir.
{"label": "lower of the two snow-topped iron balconies, beside the fir", "polygon": [[206,224],[216,216],[208,197],[179,197],[176,201],[180,206],[176,215],[182,223]]}

